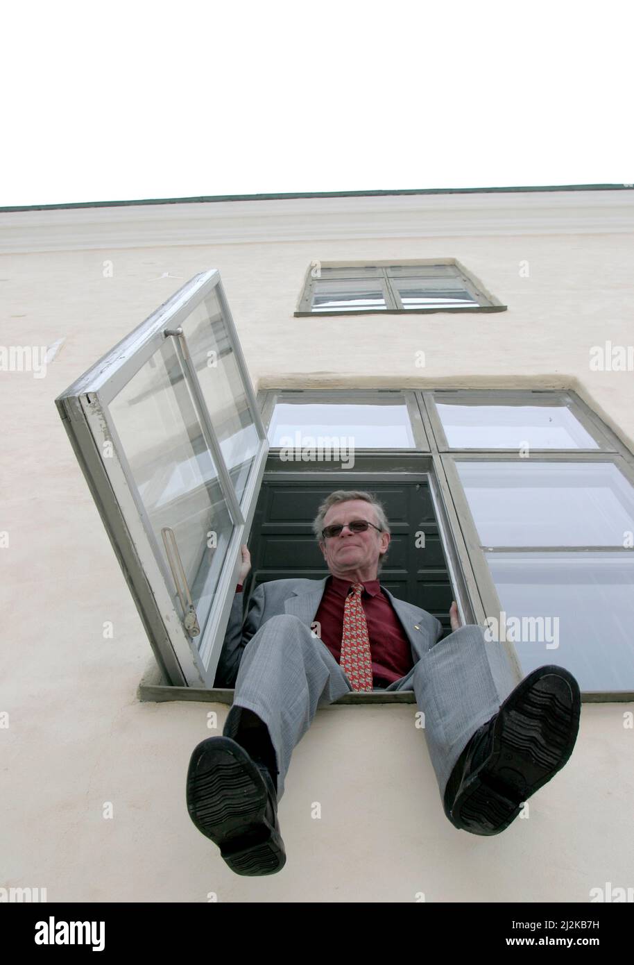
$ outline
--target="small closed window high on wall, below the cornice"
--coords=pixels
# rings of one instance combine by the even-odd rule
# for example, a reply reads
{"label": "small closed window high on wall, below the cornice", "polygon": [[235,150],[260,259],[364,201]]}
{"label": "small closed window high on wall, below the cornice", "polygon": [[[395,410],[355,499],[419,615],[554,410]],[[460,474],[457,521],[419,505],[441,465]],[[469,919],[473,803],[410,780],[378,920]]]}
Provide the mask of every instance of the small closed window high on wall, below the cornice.
{"label": "small closed window high on wall, below the cornice", "polygon": [[296,316],[369,312],[503,312],[455,259],[390,264],[312,262]]}

